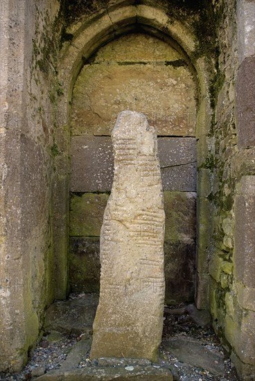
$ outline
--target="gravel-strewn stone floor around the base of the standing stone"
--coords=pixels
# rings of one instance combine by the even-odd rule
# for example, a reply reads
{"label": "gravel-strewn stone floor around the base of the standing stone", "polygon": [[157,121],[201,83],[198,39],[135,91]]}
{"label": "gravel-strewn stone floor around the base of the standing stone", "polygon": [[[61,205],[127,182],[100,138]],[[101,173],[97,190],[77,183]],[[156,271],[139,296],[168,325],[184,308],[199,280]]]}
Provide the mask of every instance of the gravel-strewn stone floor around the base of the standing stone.
{"label": "gravel-strewn stone floor around the base of the standing stone", "polygon": [[0,380],[236,381],[238,377],[210,326],[206,312],[184,303],[165,308],[159,363],[100,359],[89,349],[98,295],[71,294],[46,312],[44,333],[24,371]]}

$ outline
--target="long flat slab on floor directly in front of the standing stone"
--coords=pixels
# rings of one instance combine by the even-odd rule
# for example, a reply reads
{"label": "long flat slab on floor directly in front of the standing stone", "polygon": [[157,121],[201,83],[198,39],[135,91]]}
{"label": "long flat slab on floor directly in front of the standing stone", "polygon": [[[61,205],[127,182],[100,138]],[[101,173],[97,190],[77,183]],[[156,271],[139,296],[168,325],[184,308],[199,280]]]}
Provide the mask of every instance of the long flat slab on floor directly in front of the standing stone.
{"label": "long flat slab on floor directly in front of the standing stone", "polygon": [[38,381],[173,381],[173,375],[168,369],[154,366],[133,366],[128,370],[125,367],[105,367],[76,369],[73,371],[52,371],[37,378]]}

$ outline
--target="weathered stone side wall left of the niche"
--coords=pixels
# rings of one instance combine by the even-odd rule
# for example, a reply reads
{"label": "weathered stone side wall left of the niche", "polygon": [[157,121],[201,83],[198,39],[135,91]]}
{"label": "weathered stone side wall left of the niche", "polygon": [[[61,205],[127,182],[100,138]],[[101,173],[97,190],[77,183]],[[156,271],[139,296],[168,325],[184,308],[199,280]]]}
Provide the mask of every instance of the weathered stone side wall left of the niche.
{"label": "weathered stone side wall left of the niche", "polygon": [[54,299],[58,1],[1,1],[0,370],[26,363]]}

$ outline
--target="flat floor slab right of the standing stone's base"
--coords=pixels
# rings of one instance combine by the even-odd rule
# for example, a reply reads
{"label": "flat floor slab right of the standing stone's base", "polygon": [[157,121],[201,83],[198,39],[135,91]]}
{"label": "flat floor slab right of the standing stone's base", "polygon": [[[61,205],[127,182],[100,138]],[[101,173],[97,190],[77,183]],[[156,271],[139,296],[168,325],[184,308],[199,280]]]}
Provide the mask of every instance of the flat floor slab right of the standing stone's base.
{"label": "flat floor slab right of the standing stone's base", "polygon": [[210,351],[209,348],[205,348],[198,342],[184,337],[173,337],[164,341],[163,345],[179,361],[200,366],[215,375],[225,373],[223,355]]}

